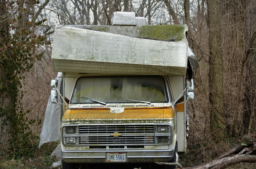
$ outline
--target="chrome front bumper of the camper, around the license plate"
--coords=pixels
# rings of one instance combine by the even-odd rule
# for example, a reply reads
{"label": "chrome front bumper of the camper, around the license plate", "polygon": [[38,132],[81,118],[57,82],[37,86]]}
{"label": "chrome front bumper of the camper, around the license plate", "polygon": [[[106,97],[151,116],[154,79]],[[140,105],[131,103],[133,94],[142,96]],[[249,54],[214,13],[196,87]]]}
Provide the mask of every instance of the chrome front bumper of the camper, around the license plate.
{"label": "chrome front bumper of the camper, around the license plate", "polygon": [[173,149],[62,150],[61,157],[68,163],[109,163],[108,152],[125,152],[126,163],[169,162],[173,158]]}

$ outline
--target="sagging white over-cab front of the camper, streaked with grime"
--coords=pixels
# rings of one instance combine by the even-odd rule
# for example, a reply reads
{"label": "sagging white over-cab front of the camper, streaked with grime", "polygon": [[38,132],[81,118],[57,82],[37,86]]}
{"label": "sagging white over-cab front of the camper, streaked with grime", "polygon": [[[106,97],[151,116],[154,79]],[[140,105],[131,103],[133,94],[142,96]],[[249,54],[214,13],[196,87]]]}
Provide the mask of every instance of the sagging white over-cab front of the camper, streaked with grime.
{"label": "sagging white over-cab front of the camper, streaked with grime", "polygon": [[169,29],[166,25],[154,26],[79,28],[58,25],[53,41],[53,71],[185,76],[188,60],[188,43],[185,37],[187,26],[181,25],[183,29],[179,29],[177,35],[167,32],[167,39],[155,33],[152,38],[146,37],[152,28],[151,32],[159,29],[161,31],[159,26]]}

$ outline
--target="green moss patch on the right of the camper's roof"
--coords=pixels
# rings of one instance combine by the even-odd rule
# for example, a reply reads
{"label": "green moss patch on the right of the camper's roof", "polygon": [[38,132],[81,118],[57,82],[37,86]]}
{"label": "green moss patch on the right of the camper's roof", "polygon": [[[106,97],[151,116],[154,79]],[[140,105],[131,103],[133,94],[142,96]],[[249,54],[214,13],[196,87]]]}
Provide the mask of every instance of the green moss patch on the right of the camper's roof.
{"label": "green moss patch on the right of the camper's roof", "polygon": [[185,39],[187,25],[145,25],[138,26],[139,38],[175,42]]}

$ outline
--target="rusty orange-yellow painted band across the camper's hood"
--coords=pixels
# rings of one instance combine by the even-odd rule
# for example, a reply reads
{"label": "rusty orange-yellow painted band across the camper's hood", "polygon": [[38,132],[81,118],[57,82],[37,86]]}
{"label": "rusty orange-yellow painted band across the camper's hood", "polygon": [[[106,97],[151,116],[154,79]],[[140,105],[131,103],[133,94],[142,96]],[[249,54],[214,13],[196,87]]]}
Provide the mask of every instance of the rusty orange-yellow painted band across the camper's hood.
{"label": "rusty orange-yellow painted band across the camper's hood", "polygon": [[[71,112],[72,111],[72,112]],[[112,113],[110,108],[68,108],[63,120],[108,120],[108,119],[163,119],[173,118],[175,112],[171,106],[165,107],[130,107],[125,108],[122,113]]]}

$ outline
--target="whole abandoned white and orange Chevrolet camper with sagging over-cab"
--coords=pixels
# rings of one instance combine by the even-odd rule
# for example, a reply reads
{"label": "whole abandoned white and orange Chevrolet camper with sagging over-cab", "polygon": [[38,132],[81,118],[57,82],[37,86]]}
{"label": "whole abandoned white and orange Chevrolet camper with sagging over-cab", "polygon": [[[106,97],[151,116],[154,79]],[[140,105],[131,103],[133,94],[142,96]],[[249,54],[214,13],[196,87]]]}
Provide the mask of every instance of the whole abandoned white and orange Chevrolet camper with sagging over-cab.
{"label": "whole abandoned white and orange Chevrolet camper with sagging over-cab", "polygon": [[199,67],[187,30],[146,25],[134,12],[115,12],[110,26],[56,26],[52,67],[62,75],[51,81],[51,101],[62,104],[63,169],[178,161]]}

